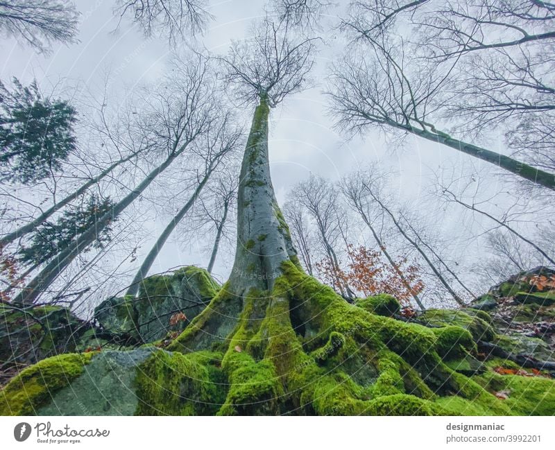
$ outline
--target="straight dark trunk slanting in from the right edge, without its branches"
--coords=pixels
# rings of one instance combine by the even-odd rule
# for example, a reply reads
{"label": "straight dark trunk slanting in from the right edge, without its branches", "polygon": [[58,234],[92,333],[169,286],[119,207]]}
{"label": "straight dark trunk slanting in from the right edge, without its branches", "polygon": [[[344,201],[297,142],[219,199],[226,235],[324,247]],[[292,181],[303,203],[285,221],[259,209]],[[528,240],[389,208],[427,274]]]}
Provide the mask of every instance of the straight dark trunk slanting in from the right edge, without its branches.
{"label": "straight dark trunk slanting in from the right edge, without its branches", "polygon": [[509,156],[502,155],[501,153],[486,150],[486,148],[468,144],[467,142],[459,141],[458,139],[453,139],[441,131],[431,132],[393,121],[388,121],[386,124],[393,126],[394,128],[411,132],[414,135],[423,137],[429,141],[439,142],[440,144],[459,150],[467,155],[483,159],[491,164],[495,164],[495,166],[504,168],[506,171],[514,173],[520,178],[524,178],[525,180],[540,184],[540,186],[547,187],[547,189],[555,189],[555,174],[545,172],[539,168],[529,166],[528,164],[524,164],[524,162],[518,161],[518,159],[513,159]]}

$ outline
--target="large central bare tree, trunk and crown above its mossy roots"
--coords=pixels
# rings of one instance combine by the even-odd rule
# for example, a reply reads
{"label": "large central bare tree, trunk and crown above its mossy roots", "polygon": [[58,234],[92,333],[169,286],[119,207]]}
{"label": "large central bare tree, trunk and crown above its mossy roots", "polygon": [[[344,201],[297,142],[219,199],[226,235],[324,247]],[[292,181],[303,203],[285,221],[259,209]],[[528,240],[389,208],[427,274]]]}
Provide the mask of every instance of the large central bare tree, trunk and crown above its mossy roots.
{"label": "large central bare tree, trunk and crown above its mossy roots", "polygon": [[296,261],[287,226],[271,184],[268,164],[268,116],[284,98],[300,92],[314,64],[314,40],[289,32],[287,21],[266,17],[253,37],[233,42],[226,58],[225,81],[243,103],[256,104],[237,189],[237,250],[230,290],[273,288],[284,261]]}

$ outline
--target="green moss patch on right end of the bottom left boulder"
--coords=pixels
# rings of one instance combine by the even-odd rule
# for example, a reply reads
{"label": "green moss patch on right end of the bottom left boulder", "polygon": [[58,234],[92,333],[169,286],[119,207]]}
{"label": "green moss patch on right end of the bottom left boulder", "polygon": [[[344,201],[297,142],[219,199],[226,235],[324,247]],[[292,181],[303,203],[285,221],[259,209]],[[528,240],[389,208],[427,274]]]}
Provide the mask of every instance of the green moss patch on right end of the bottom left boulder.
{"label": "green moss patch on right end of the bottom left boulder", "polygon": [[137,370],[137,415],[212,415],[225,398],[222,355],[158,350]]}

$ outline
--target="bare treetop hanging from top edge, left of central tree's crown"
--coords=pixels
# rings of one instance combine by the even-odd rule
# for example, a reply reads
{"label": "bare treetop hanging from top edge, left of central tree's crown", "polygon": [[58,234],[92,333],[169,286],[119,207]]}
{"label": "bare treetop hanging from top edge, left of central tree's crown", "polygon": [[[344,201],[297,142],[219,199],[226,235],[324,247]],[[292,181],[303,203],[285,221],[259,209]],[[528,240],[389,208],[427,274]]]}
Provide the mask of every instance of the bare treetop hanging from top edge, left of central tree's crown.
{"label": "bare treetop hanging from top edge, left of central tree's crown", "polygon": [[[171,44],[202,33],[213,19],[205,0],[117,0],[114,13],[130,16],[147,37],[167,35]],[[162,31],[161,31],[162,30]]]}

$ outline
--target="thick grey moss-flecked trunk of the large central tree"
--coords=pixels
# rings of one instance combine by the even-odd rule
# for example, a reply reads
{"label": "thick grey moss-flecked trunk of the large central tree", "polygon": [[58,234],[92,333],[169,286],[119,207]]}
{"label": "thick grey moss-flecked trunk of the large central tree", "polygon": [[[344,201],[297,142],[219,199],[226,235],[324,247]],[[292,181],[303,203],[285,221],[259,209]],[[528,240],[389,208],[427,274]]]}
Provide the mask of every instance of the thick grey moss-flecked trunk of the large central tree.
{"label": "thick grey moss-flecked trunk of the large central tree", "polygon": [[[283,218],[268,163],[268,114],[264,99],[255,110],[241,164],[237,191],[237,251],[229,289],[239,297],[251,289],[271,291],[282,263],[299,266],[289,227]],[[300,267],[300,266],[299,266]]]}

